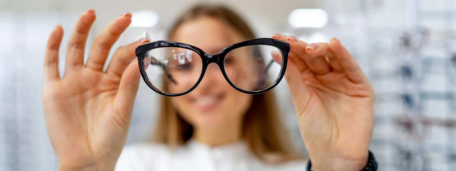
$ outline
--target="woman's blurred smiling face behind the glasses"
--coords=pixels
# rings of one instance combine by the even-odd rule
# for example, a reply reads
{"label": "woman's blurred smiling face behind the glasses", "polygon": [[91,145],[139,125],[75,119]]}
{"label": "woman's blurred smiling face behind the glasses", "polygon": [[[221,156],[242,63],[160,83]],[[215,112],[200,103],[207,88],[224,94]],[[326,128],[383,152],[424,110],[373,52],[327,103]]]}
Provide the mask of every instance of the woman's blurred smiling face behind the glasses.
{"label": "woman's blurred smiling face behind the glasses", "polygon": [[[187,43],[201,48],[208,54],[217,54],[223,48],[245,39],[233,28],[221,21],[210,17],[183,23],[176,31],[172,41]],[[170,73],[179,83],[168,83],[171,92],[183,92],[191,88],[201,73],[201,57],[186,49],[170,49],[169,54],[176,60],[169,60],[169,65],[179,65]],[[258,77],[249,69],[240,69],[237,66],[253,66],[252,49],[241,48],[228,53],[225,59],[226,72],[230,80],[239,88],[255,88]],[[179,54],[181,54],[179,58]],[[180,59],[180,60],[179,60]],[[254,68],[254,67],[251,67]],[[168,82],[170,79],[168,79]],[[172,81],[172,80],[171,80]],[[202,78],[192,92],[171,98],[172,104],[176,107],[182,117],[198,128],[214,128],[214,126],[226,126],[233,122],[241,122],[243,115],[249,109],[253,96],[241,93],[231,87],[223,77],[222,72],[215,63],[209,64]]]}

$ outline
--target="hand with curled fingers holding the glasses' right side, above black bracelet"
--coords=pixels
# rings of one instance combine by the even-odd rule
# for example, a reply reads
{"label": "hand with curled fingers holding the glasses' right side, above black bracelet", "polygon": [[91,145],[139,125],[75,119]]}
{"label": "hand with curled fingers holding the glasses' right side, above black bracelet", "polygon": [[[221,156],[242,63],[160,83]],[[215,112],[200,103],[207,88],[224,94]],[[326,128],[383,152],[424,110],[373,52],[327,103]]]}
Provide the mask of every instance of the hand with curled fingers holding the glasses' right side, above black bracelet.
{"label": "hand with curled fingers holding the glasses' right side, above black bracelet", "polygon": [[361,170],[373,134],[374,93],[358,63],[336,38],[311,44],[272,38],[290,43],[285,79],[313,170]]}

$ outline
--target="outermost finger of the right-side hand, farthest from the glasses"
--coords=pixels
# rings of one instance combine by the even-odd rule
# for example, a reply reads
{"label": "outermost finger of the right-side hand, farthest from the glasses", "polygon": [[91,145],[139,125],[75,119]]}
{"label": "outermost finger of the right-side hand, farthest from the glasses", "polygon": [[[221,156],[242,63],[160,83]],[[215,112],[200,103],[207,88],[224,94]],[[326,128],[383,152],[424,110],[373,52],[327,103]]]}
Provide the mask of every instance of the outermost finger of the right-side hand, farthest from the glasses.
{"label": "outermost finger of the right-side hand, farthest from the glasses", "polygon": [[345,47],[342,46],[337,38],[332,38],[329,43],[334,56],[339,60],[345,74],[353,83],[365,83],[368,81],[363,71],[358,65],[358,62],[350,55]]}

